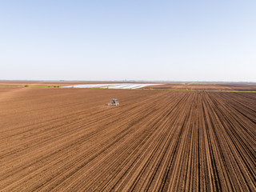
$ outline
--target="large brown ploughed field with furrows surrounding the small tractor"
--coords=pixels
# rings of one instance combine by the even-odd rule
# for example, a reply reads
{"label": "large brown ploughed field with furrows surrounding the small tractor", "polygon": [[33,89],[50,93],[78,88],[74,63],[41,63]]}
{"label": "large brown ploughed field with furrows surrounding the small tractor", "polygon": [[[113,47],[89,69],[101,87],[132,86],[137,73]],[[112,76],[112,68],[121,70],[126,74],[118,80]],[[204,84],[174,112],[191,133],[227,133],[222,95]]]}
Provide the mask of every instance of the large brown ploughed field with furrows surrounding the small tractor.
{"label": "large brown ploughed field with furrows surrounding the small tractor", "polygon": [[0,191],[255,191],[255,156],[255,93],[0,87]]}

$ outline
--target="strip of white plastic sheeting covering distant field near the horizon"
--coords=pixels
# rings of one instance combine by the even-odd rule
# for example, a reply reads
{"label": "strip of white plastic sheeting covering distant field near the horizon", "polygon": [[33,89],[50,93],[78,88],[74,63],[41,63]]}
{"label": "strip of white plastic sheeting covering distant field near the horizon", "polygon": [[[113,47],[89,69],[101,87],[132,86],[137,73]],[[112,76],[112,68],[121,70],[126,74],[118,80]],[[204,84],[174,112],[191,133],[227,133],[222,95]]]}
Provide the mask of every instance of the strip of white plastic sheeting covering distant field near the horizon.
{"label": "strip of white plastic sheeting covering distant field near the horizon", "polygon": [[109,84],[84,84],[74,86],[62,86],[62,87],[74,87],[74,88],[103,88],[103,89],[139,89],[144,86],[158,86],[162,84],[150,84],[150,83],[109,83]]}

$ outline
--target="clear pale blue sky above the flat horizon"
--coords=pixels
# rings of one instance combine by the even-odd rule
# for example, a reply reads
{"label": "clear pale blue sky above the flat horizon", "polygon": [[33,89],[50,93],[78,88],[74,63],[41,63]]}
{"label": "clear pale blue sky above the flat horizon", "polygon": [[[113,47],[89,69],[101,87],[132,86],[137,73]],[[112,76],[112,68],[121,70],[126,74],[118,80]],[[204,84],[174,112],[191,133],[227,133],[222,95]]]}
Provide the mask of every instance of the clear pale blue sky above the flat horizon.
{"label": "clear pale blue sky above the flat horizon", "polygon": [[0,1],[0,79],[256,82],[256,1]]}

